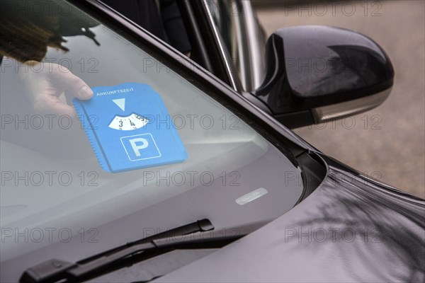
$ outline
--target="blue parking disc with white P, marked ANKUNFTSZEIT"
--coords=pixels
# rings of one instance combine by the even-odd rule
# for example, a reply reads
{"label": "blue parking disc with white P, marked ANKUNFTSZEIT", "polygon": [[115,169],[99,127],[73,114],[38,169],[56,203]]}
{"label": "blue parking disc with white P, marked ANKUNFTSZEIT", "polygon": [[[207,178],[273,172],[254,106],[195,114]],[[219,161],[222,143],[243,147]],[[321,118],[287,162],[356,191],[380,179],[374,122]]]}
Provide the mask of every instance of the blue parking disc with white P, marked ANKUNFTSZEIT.
{"label": "blue parking disc with white P, marked ANKUNFTSZEIT", "polygon": [[161,97],[144,83],[92,88],[74,98],[103,170],[117,173],[185,161],[188,157]]}

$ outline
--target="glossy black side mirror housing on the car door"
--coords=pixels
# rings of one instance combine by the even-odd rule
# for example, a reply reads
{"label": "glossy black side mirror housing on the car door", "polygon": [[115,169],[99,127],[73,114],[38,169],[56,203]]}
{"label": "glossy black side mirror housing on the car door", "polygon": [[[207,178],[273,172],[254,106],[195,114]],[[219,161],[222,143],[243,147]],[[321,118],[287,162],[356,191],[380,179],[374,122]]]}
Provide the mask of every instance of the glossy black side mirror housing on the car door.
{"label": "glossy black side mirror housing on the car door", "polygon": [[295,128],[355,115],[390,95],[394,69],[365,35],[318,25],[277,30],[266,45],[266,78],[253,93]]}

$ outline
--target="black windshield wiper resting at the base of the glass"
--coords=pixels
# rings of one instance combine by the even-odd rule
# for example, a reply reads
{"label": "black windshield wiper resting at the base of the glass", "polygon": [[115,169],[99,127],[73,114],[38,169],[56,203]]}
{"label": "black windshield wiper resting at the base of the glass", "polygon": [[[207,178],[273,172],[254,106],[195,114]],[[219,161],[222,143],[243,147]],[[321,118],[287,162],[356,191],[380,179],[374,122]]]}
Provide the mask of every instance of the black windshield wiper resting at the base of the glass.
{"label": "black windshield wiper resting at the base of the glass", "polygon": [[[169,231],[127,243],[78,262],[51,259],[28,268],[21,283],[81,282],[121,267],[130,266],[176,249],[221,248],[244,235],[211,237],[214,229],[208,219],[198,220]],[[200,233],[196,233],[200,232]],[[189,235],[190,236],[185,236]]]}

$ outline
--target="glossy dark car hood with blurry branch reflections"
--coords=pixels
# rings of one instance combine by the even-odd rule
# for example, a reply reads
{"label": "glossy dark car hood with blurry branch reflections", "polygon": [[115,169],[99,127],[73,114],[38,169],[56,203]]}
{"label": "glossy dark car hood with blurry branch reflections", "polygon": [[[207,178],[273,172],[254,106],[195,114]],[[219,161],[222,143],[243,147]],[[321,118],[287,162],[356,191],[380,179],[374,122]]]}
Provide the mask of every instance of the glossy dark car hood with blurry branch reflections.
{"label": "glossy dark car hood with blurry branch reflections", "polygon": [[424,282],[424,200],[327,162],[288,213],[155,282]]}

